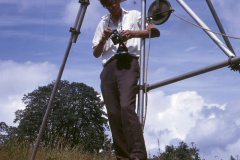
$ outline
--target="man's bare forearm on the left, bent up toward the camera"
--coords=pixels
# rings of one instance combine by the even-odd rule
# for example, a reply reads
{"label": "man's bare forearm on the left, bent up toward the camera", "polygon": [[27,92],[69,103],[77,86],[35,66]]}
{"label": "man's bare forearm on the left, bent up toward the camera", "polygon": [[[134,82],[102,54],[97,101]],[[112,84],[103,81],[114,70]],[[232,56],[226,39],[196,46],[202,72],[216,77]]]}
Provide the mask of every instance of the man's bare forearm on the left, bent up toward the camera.
{"label": "man's bare forearm on the left, bent up toward the camera", "polygon": [[102,38],[98,45],[93,48],[93,55],[98,58],[101,56],[103,49],[104,49],[104,44],[106,41],[109,39],[109,37],[112,35],[112,29],[108,27],[103,31]]}

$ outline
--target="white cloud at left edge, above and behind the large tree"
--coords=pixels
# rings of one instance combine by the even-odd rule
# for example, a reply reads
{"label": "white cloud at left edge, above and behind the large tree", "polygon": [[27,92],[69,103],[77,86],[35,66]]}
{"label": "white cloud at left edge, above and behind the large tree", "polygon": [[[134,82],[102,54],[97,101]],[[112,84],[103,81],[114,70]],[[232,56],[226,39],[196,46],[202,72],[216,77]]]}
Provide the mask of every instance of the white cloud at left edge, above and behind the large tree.
{"label": "white cloud at left edge, above and behind the large tree", "polygon": [[24,108],[21,101],[23,95],[50,83],[56,73],[55,65],[49,62],[16,63],[0,60],[0,121],[13,125],[14,112]]}

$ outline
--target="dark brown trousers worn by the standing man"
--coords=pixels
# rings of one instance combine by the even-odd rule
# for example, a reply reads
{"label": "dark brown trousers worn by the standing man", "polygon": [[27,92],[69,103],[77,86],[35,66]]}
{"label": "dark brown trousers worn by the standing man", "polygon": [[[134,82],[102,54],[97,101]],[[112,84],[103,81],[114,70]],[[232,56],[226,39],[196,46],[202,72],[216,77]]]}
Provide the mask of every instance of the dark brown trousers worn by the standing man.
{"label": "dark brown trousers worn by the standing man", "polygon": [[138,59],[114,59],[103,69],[101,90],[107,108],[117,159],[147,159],[142,128],[135,112]]}

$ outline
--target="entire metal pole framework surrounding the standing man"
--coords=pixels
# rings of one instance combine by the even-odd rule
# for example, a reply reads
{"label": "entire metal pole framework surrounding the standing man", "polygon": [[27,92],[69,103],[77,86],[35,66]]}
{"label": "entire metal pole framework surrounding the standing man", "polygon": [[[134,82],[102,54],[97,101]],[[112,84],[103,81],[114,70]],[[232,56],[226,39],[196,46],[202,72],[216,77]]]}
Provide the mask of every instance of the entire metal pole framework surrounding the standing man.
{"label": "entire metal pole framework surrounding the standing man", "polygon": [[[57,92],[57,88],[58,88],[58,85],[59,85],[59,82],[60,82],[60,79],[61,79],[64,67],[65,67],[65,64],[66,64],[66,61],[67,61],[67,58],[68,58],[68,55],[69,55],[72,43],[76,43],[78,35],[80,34],[80,28],[82,26],[82,22],[83,22],[83,19],[84,19],[86,10],[87,10],[87,6],[90,4],[89,1],[90,0],[79,0],[79,3],[81,3],[81,6],[80,6],[78,14],[77,14],[77,18],[76,18],[76,21],[75,21],[75,24],[74,24],[74,28],[70,28],[70,32],[72,32],[72,34],[71,34],[71,37],[70,37],[69,42],[68,42],[68,46],[67,46],[67,49],[66,49],[66,52],[65,52],[65,55],[64,55],[64,58],[63,58],[62,65],[60,67],[60,70],[59,70],[59,73],[58,73],[58,76],[57,76],[57,80],[55,82],[55,85],[54,85],[54,88],[53,88],[53,91],[52,91],[52,94],[51,94],[51,98],[50,98],[48,106],[47,106],[47,110],[46,110],[45,116],[43,118],[43,122],[42,122],[41,129],[40,129],[38,137],[37,137],[36,144],[34,146],[34,150],[33,150],[32,156],[31,156],[31,160],[35,159],[35,156],[36,156],[36,153],[37,153],[37,149],[38,149],[41,137],[43,135],[44,129],[45,129],[46,124],[47,124],[47,119],[48,119],[48,116],[49,116],[50,111],[51,111],[53,100],[55,98],[55,95],[56,95],[56,92]],[[176,1],[186,10],[186,12],[200,26],[202,26],[202,27],[204,27],[206,29],[209,29],[208,26],[191,10],[191,8],[183,0],[176,0]],[[222,25],[221,25],[221,23],[220,23],[220,21],[219,21],[219,19],[217,17],[217,14],[216,14],[216,12],[215,12],[212,4],[211,4],[211,1],[210,0],[206,0],[206,1],[207,1],[208,5],[209,5],[209,8],[210,8],[210,10],[211,10],[211,12],[212,12],[212,14],[213,14],[213,16],[214,16],[218,26],[219,26],[219,28],[221,28],[220,31],[225,34],[225,32],[223,30],[223,27],[222,27]],[[141,26],[141,29],[144,30],[145,27],[146,27],[145,26],[146,0],[141,0],[141,16],[142,16],[142,26]],[[222,61],[222,62],[213,64],[213,65],[210,65],[210,66],[207,66],[207,67],[204,67],[204,68],[192,71],[192,72],[188,72],[186,74],[182,74],[182,75],[179,75],[179,76],[176,76],[176,77],[173,77],[173,78],[170,78],[170,79],[167,79],[167,80],[164,80],[164,81],[161,81],[161,82],[149,85],[147,87],[147,91],[150,91],[152,89],[159,88],[159,87],[171,84],[171,83],[175,83],[175,82],[178,82],[178,81],[190,78],[190,77],[194,77],[194,76],[197,76],[197,75],[200,75],[200,74],[203,74],[203,73],[207,73],[207,72],[219,69],[219,68],[223,68],[223,67],[226,67],[228,65],[232,65],[234,63],[240,63],[240,56],[238,56],[238,57],[235,56],[235,53],[234,53],[234,51],[233,51],[233,49],[231,47],[231,44],[228,41],[228,39],[225,40],[225,42],[226,42],[227,46],[230,49],[228,47],[226,47],[218,39],[218,37],[215,34],[209,32],[209,31],[206,31],[206,30],[204,30],[204,31],[222,49],[222,51],[229,57],[229,60]],[[144,77],[145,77],[145,38],[143,38],[141,40],[140,79],[139,79],[139,94],[138,94],[138,109],[137,109],[138,116],[139,116],[139,121],[140,121],[141,124],[143,124],[143,113],[144,113],[144,107],[143,107],[144,106],[144,87],[142,87],[142,86],[145,85],[144,84]],[[104,101],[101,101],[100,104],[104,104]]]}

